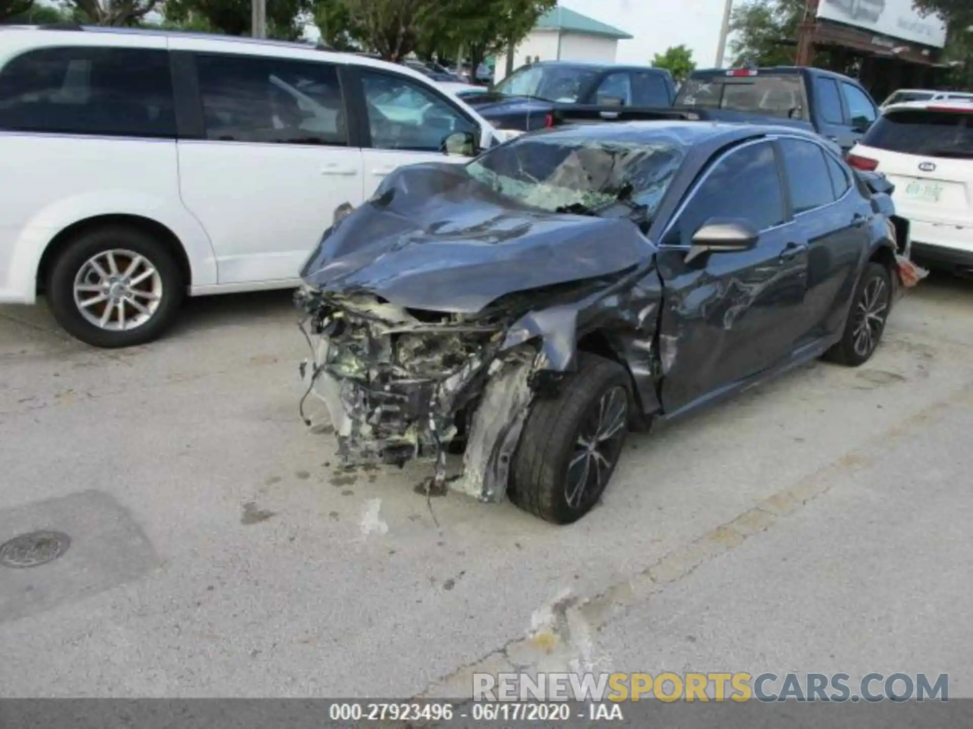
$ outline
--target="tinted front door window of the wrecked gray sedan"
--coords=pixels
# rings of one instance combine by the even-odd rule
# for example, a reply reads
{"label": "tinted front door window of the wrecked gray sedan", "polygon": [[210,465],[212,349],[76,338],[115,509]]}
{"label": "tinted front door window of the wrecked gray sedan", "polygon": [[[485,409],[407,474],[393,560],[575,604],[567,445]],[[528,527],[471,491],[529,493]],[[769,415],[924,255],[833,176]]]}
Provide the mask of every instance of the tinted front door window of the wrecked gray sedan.
{"label": "tinted front door window of the wrecked gray sedan", "polygon": [[[743,190],[746,194],[740,194]],[[711,168],[672,226],[667,245],[689,246],[711,218],[741,218],[758,230],[784,222],[783,190],[769,142],[744,147]]]}

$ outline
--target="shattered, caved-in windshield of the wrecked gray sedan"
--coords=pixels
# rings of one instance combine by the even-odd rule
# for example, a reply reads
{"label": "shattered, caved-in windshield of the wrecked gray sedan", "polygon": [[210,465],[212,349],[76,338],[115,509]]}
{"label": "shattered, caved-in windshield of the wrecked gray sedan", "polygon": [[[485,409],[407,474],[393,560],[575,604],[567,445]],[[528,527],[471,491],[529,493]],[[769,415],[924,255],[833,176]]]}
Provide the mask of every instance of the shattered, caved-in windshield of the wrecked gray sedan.
{"label": "shattered, caved-in windshield of the wrecked gray sedan", "polygon": [[596,213],[621,201],[651,219],[685,149],[667,139],[523,137],[466,165],[494,191],[551,213]]}

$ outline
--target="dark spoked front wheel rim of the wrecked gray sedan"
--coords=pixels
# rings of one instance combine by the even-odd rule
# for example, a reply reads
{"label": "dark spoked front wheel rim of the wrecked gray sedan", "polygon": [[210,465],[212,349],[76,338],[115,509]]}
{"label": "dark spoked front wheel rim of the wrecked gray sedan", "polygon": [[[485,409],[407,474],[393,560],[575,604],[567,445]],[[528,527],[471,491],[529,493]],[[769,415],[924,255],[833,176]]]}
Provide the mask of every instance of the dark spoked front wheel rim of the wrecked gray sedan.
{"label": "dark spoked front wheel rim of the wrecked gray sedan", "polygon": [[606,391],[585,419],[574,445],[564,479],[564,498],[571,508],[587,494],[600,494],[621,451],[629,419],[629,395],[624,387]]}

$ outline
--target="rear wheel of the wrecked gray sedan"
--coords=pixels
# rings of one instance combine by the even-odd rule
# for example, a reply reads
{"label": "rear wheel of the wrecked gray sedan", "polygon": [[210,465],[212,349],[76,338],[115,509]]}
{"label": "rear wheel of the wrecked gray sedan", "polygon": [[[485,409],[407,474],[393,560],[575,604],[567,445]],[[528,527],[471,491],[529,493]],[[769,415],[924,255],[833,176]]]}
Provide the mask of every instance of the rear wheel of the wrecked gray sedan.
{"label": "rear wheel of the wrecked gray sedan", "polygon": [[849,367],[857,367],[872,359],[882,341],[891,306],[892,283],[888,269],[882,263],[866,264],[851,299],[842,338],[824,358]]}

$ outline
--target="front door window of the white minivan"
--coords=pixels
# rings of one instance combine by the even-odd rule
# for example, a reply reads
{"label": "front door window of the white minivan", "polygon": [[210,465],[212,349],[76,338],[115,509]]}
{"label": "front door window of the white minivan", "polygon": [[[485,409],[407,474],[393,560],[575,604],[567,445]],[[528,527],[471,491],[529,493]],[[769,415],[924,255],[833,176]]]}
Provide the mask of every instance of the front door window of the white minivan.
{"label": "front door window of the white minivan", "polygon": [[363,72],[372,147],[442,152],[450,134],[477,127],[429,88],[403,76]]}

